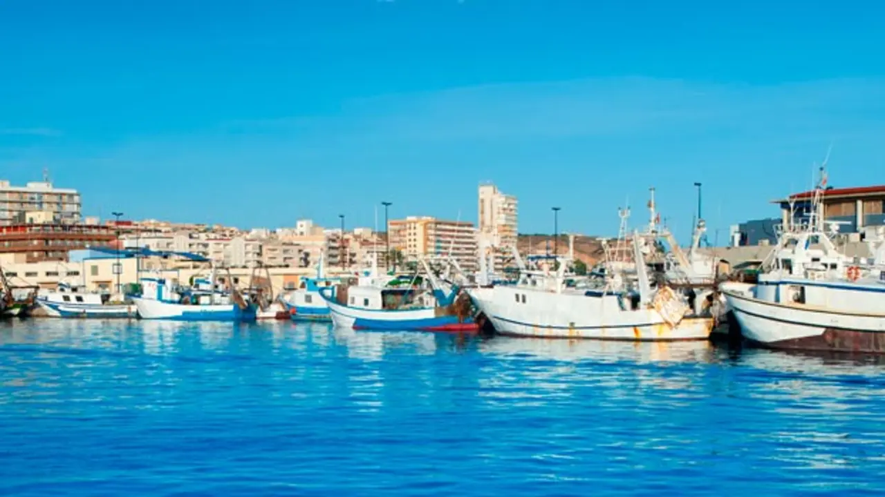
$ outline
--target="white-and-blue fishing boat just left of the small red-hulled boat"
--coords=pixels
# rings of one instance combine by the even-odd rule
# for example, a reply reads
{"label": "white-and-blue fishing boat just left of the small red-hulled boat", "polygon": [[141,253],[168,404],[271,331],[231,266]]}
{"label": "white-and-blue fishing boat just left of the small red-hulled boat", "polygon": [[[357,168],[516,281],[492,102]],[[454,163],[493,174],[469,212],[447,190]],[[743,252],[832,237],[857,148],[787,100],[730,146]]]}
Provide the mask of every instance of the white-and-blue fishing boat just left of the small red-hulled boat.
{"label": "white-and-blue fishing boat just left of the small red-hulled boat", "polygon": [[165,278],[142,278],[142,295],[132,297],[138,316],[178,321],[255,321],[258,306],[244,299],[236,287],[219,288],[214,275],[212,270],[211,278],[196,278],[189,288],[174,287]]}

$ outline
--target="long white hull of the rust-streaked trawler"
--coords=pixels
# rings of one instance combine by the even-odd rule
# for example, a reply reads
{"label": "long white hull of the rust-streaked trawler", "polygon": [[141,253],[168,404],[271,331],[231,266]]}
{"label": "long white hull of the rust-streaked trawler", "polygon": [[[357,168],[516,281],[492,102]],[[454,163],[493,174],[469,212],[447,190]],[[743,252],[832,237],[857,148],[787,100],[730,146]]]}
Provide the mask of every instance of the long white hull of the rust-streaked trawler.
{"label": "long white hull of the rust-streaked trawler", "polygon": [[[657,310],[621,310],[615,295],[556,294],[525,287],[469,290],[498,333],[596,340],[706,340],[712,317],[666,323]],[[525,297],[525,299],[523,299]]]}

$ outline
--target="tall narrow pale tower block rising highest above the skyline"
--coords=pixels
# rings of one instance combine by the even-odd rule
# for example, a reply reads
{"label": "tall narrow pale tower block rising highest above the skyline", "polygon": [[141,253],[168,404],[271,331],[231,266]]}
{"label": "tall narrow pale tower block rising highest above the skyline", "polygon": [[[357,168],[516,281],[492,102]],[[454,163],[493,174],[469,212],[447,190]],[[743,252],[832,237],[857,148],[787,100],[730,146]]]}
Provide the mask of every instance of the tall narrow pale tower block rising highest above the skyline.
{"label": "tall narrow pale tower block rising highest above the skyline", "polygon": [[504,195],[495,185],[480,185],[479,214],[479,244],[496,249],[496,266],[502,265],[519,236],[516,197]]}

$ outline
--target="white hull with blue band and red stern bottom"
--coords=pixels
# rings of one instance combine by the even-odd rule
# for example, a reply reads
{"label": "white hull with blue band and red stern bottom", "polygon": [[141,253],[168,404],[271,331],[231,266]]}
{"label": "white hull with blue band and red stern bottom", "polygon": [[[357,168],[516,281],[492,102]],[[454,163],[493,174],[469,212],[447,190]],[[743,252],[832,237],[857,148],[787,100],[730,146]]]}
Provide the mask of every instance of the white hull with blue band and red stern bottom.
{"label": "white hull with blue band and red stern bottom", "polygon": [[471,317],[437,316],[434,308],[415,310],[368,310],[327,301],[335,326],[355,330],[475,333],[479,325]]}

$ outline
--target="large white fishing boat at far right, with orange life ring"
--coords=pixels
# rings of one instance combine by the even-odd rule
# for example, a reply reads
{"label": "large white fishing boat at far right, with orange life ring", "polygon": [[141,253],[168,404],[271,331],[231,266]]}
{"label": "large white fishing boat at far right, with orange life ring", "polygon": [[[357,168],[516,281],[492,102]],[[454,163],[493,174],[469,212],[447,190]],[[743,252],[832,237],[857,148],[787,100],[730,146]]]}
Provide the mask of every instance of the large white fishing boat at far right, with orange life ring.
{"label": "large white fishing boat at far right, with orange life ring", "polygon": [[825,230],[826,173],[812,194],[808,222],[779,229],[755,284],[721,285],[743,337],[766,348],[885,353],[885,241],[871,257],[849,257]]}

